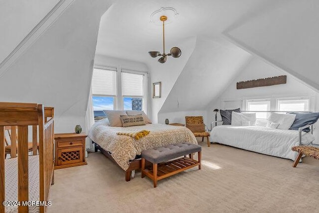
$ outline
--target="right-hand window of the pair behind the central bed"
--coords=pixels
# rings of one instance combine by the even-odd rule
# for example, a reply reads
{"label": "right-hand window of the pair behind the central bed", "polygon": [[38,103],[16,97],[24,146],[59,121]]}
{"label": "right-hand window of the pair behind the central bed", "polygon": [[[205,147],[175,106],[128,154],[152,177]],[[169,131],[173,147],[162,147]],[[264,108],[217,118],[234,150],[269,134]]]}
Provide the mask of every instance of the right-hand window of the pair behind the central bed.
{"label": "right-hand window of the pair behind the central bed", "polygon": [[143,110],[144,75],[122,72],[124,110]]}

